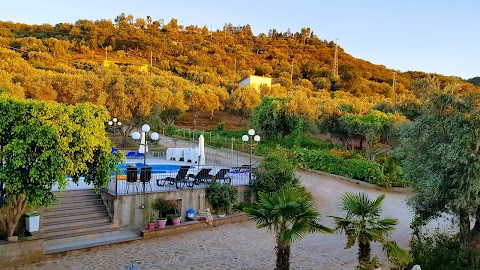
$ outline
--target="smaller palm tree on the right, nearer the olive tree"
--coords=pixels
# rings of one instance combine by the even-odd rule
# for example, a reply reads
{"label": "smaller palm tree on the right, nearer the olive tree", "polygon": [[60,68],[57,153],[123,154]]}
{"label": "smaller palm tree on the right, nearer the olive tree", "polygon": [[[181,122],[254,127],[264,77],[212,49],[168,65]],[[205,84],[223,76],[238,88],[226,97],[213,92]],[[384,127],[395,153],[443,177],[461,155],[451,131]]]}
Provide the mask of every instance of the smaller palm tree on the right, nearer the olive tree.
{"label": "smaller palm tree on the right, nearer the olive tree", "polygon": [[[384,250],[393,256],[405,255],[395,242],[386,241],[386,237],[395,230],[398,220],[380,218],[384,199],[385,194],[372,201],[366,193],[344,193],[341,210],[347,212],[347,216],[345,218],[332,217],[335,221],[335,231],[345,232],[347,236],[345,248],[351,248],[355,242],[358,242],[358,263],[360,265],[365,266],[370,263],[371,242],[384,244]],[[398,260],[398,258],[396,259]]]}

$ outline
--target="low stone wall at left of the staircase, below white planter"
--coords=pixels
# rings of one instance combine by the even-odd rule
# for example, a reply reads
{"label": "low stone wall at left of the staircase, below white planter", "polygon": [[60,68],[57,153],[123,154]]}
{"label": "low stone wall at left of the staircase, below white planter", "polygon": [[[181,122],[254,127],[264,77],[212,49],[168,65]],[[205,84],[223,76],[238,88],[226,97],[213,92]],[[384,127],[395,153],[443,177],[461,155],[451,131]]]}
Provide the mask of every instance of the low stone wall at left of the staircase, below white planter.
{"label": "low stone wall at left of the staircase, below white planter", "polygon": [[39,262],[43,260],[43,238],[25,237],[18,242],[0,241],[0,268]]}

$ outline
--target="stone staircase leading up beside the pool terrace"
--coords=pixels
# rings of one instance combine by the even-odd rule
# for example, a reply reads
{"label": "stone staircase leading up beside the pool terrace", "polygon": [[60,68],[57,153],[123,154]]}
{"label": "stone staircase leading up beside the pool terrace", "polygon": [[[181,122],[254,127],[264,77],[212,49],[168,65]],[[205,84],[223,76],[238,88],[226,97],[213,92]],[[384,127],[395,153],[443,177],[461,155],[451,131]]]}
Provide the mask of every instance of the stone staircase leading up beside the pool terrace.
{"label": "stone staircase leading up beside the pool terrace", "polygon": [[108,216],[100,194],[93,189],[55,194],[60,203],[43,213],[43,236],[47,246],[58,247],[79,240],[118,234],[120,229]]}

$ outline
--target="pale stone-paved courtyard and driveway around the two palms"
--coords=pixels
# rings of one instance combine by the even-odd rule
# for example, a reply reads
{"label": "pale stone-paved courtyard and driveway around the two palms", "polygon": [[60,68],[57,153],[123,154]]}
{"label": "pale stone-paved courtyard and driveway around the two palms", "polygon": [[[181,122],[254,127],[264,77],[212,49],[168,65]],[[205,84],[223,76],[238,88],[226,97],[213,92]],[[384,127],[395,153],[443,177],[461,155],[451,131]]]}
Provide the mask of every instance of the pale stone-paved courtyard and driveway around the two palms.
{"label": "pale stone-paved courtyard and driveway around the two palms", "polygon": [[[177,142],[178,143],[178,142]],[[181,147],[181,146],[178,146]],[[208,150],[207,150],[208,151]],[[217,157],[221,156],[220,150]],[[208,152],[207,152],[208,153]],[[215,155],[213,155],[215,156]],[[224,158],[228,154],[224,153]],[[241,155],[247,161],[248,155]],[[208,159],[208,156],[207,156]],[[329,215],[344,214],[338,210],[342,193],[367,192],[372,198],[387,194],[383,214],[398,218],[400,224],[392,238],[408,247],[412,213],[405,205],[409,193],[379,190],[372,186],[339,180],[324,174],[298,171],[297,176],[312,192],[322,213],[322,223],[333,225]],[[353,269],[357,265],[357,248],[344,249],[344,235],[310,234],[292,246],[291,269]],[[275,237],[253,222],[241,222],[181,235],[137,241],[88,252],[74,252],[61,258],[7,269],[124,269],[135,261],[139,269],[274,269]],[[378,244],[372,256],[386,261]]]}

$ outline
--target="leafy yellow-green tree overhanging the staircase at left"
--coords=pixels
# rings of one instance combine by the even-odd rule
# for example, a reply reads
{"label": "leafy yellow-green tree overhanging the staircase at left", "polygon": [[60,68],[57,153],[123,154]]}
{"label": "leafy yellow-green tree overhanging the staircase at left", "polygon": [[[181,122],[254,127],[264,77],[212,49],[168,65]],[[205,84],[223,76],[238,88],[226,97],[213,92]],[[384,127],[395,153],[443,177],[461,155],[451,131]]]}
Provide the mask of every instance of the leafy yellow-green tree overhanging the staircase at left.
{"label": "leafy yellow-green tree overhanging the staircase at left", "polygon": [[6,201],[0,226],[9,236],[25,208],[50,205],[52,187],[64,189],[67,176],[104,187],[120,161],[110,153],[105,108],[0,98],[0,112],[0,181]]}

